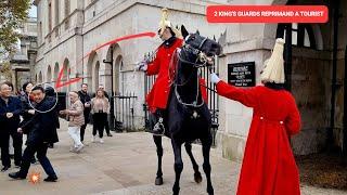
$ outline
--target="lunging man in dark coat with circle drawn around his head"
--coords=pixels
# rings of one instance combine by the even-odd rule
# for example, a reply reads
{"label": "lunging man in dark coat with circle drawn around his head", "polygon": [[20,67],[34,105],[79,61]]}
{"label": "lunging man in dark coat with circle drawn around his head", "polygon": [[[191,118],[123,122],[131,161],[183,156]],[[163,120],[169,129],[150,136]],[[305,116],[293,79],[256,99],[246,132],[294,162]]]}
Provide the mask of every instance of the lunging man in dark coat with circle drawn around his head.
{"label": "lunging man in dark coat with circle drawn around his head", "polygon": [[18,128],[18,132],[28,133],[27,147],[23,154],[21,170],[10,173],[9,177],[13,179],[25,179],[30,167],[30,160],[34,154],[37,153],[37,158],[48,174],[44,181],[55,182],[57,177],[47,157],[47,150],[49,144],[59,141],[56,133],[56,99],[47,96],[41,86],[35,87],[31,94],[36,102],[36,113],[33,119]]}

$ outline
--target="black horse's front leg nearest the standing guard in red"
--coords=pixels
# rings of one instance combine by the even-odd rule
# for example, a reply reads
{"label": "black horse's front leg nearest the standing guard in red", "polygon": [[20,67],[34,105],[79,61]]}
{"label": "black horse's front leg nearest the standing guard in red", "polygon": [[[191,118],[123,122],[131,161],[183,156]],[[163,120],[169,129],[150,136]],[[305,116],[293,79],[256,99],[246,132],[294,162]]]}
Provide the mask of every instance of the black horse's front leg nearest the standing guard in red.
{"label": "black horse's front leg nearest the standing guard in red", "polygon": [[213,183],[210,180],[210,162],[209,162],[209,151],[210,151],[210,146],[213,143],[213,139],[209,135],[206,139],[202,139],[202,145],[203,145],[203,156],[204,156],[204,164],[203,164],[203,168],[204,168],[204,172],[206,174],[206,180],[207,180],[207,193],[208,195],[214,195],[214,187],[213,187]]}

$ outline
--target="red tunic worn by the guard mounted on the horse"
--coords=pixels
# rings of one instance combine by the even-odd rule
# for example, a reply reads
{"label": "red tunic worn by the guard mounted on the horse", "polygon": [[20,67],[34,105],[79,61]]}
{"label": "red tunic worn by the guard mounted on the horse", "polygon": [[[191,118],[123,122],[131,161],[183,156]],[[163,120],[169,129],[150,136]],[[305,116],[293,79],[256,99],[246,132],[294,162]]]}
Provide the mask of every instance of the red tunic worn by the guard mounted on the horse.
{"label": "red tunic worn by the guard mounted on the horse", "polygon": [[[170,83],[169,78],[169,64],[172,54],[177,48],[182,47],[183,40],[176,39],[171,47],[164,47],[163,44],[158,48],[156,57],[149,64],[146,75],[157,75],[157,78],[152,87],[151,92],[146,95],[146,103],[152,113],[156,108],[165,109],[167,106],[167,101],[170,94]],[[203,79],[200,80],[201,83],[205,83]],[[202,96],[207,103],[207,92],[205,88],[201,88]]]}

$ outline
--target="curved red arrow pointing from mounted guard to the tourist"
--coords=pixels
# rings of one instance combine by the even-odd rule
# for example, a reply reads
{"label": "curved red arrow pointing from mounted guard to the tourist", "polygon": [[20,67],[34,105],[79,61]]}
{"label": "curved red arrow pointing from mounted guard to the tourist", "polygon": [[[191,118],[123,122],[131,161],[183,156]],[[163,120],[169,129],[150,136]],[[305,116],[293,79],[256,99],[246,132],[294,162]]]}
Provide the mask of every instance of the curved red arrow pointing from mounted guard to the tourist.
{"label": "curved red arrow pointing from mounted guard to the tourist", "polygon": [[[140,38],[140,37],[155,37],[155,32],[142,32],[142,34],[136,34],[136,35],[129,35],[129,36],[125,36],[125,37],[120,37],[120,38],[117,38],[117,39],[114,39],[114,40],[111,40],[108,42],[105,42],[104,44],[91,50],[91,52],[87,53],[77,64],[79,64],[80,62],[82,62],[86,57],[88,57],[93,51],[97,51],[105,46],[108,46],[108,44],[113,44],[113,43],[116,43],[116,42],[119,42],[119,41],[123,41],[123,40],[128,40],[128,39],[134,39],[134,38]],[[61,68],[60,73],[59,73],[59,76],[57,76],[57,79],[56,79],[56,82],[55,82],[55,89],[59,89],[59,88],[62,88],[64,86],[69,86],[74,82],[78,82],[79,80],[81,80],[82,78],[81,77],[76,77],[74,79],[69,79],[67,80],[66,82],[62,82],[62,78],[64,76],[64,66]]]}

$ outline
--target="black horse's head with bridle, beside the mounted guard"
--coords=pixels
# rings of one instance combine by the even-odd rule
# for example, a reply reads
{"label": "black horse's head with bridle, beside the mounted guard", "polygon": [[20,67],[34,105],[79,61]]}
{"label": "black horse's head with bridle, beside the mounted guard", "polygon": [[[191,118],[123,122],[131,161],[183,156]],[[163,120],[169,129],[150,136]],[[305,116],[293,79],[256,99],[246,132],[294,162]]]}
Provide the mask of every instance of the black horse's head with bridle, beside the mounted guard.
{"label": "black horse's head with bridle, beside the mounted guard", "polygon": [[185,27],[181,26],[181,34],[184,38],[184,47],[194,57],[198,65],[213,65],[215,55],[221,52],[221,46],[208,38],[201,36],[198,32],[189,34]]}

